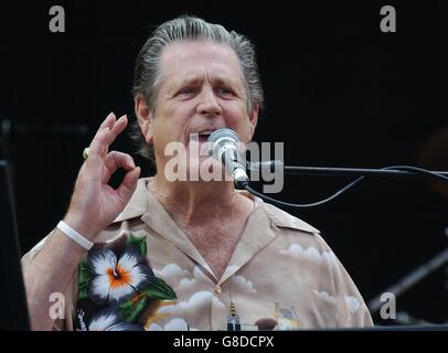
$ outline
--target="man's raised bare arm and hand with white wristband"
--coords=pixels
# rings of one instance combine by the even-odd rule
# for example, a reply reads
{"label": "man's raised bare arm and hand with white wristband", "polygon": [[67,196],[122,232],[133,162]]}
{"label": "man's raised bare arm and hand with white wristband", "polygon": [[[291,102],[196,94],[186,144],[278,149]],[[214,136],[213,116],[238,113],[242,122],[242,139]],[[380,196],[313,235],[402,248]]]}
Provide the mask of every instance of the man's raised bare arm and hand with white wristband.
{"label": "man's raised bare arm and hand with white wristband", "polygon": [[[126,116],[116,120],[114,114],[104,120],[95,135],[89,156],[79,170],[72,201],[64,222],[85,238],[94,240],[125,208],[137,186],[140,169],[129,154],[108,151],[110,143],[127,125]],[[127,173],[117,189],[107,184],[124,168]],[[65,293],[86,249],[54,229],[51,238],[24,267],[23,277],[33,330],[51,330],[55,319],[50,315],[53,292]]]}

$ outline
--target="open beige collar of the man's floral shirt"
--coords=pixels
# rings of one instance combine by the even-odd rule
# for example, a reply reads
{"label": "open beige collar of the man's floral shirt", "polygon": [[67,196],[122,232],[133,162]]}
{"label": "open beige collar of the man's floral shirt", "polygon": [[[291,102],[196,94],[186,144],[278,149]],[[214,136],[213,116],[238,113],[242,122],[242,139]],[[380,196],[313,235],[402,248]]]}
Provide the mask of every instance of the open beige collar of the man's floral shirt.
{"label": "open beige collar of the man's floral shirt", "polygon": [[199,264],[209,274],[210,278],[218,285],[237,272],[258,252],[269,245],[279,235],[276,228],[292,228],[312,234],[319,232],[303,221],[264,203],[262,199],[246,191],[239,191],[255,202],[255,207],[247,220],[246,227],[231,257],[227,269],[221,278],[216,278],[184,231],[169,215],[156,195],[149,191],[148,182],[149,178],[138,181],[136,192],[115,222],[140,217],[153,232],[157,232]]}

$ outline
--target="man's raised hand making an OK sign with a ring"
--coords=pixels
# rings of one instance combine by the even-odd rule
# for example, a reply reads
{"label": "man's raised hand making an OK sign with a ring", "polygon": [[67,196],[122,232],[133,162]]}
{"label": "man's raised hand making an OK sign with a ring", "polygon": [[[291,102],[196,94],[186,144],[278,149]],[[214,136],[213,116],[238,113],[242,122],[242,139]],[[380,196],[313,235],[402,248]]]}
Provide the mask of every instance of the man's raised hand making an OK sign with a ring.
{"label": "man's raised hand making an OK sign with a ring", "polygon": [[[140,168],[127,153],[110,151],[109,146],[128,124],[126,116],[118,120],[113,113],[100,125],[92,140],[88,158],[82,165],[72,201],[64,221],[88,239],[106,228],[125,208],[137,188]],[[117,189],[107,184],[119,169],[127,172]]]}

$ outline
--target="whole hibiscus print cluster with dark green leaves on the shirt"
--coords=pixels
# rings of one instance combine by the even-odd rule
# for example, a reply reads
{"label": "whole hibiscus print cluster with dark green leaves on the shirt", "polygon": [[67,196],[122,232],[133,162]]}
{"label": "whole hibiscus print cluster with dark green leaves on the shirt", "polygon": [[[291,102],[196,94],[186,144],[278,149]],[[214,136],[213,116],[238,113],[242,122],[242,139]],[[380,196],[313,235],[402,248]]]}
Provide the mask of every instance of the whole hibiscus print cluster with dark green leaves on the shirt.
{"label": "whole hibiscus print cluster with dark green leaves on the shirt", "polygon": [[177,299],[147,259],[147,234],[124,233],[96,244],[79,263],[77,329],[139,331],[159,307]]}

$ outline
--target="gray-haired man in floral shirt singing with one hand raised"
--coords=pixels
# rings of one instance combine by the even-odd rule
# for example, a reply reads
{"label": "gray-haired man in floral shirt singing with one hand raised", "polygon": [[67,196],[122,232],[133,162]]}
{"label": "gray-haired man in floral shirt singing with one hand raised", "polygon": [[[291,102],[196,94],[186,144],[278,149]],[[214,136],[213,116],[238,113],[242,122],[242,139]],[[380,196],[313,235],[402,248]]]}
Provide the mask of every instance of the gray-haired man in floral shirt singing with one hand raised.
{"label": "gray-haired man in floral shirt singing with one hand raised", "polygon": [[[250,42],[178,18],[154,31],[135,73],[141,152],[153,156],[157,174],[139,180],[130,156],[108,151],[128,122],[110,114],[90,143],[64,221],[23,257],[33,329],[371,325],[319,231],[235,191],[232,181],[192,181],[206,162],[192,151],[204,151],[211,132],[230,128],[243,142],[253,137],[263,90]],[[170,143],[186,148],[178,165],[186,181],[167,175]],[[127,173],[114,190],[107,181],[118,168]],[[54,293],[65,299],[63,313],[50,300]]]}

